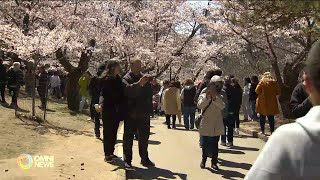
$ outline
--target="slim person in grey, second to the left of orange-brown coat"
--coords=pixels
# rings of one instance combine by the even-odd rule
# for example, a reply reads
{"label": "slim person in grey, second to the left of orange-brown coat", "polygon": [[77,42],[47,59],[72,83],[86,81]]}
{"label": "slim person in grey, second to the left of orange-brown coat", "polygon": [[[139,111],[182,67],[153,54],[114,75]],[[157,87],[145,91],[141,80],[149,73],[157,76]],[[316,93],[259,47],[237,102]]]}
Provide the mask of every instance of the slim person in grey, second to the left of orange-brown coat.
{"label": "slim person in grey, second to the left of orange-brown coat", "polygon": [[248,121],[249,118],[252,117],[252,110],[250,108],[250,88],[251,88],[251,80],[250,78],[244,79],[244,88],[242,95],[242,107],[243,107],[243,115],[244,121]]}

